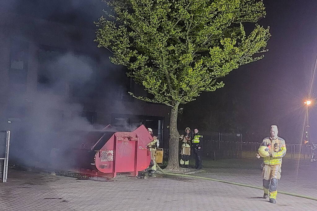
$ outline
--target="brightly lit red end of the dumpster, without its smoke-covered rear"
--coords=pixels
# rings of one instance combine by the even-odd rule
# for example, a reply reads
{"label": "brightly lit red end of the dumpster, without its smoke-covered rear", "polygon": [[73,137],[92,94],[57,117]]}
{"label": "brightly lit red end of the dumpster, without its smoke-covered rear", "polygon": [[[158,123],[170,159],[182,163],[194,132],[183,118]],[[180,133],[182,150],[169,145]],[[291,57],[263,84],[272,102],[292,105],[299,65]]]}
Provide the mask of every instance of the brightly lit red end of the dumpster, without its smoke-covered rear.
{"label": "brightly lit red end of the dumpster, without its smoke-covered rear", "polygon": [[117,173],[137,176],[151,162],[147,144],[153,140],[144,125],[133,132],[116,132],[95,154],[94,164],[108,178]]}

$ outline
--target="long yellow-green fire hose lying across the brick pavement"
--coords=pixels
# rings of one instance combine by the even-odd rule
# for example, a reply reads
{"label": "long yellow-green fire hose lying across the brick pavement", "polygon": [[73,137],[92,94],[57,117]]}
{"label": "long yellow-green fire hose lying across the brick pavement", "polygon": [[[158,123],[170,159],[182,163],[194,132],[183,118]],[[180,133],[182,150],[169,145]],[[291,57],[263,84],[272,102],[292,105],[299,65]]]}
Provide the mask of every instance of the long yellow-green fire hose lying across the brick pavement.
{"label": "long yellow-green fire hose lying across the brick pavement", "polygon": [[[233,184],[233,185],[239,185],[239,186],[243,186],[243,187],[255,188],[255,189],[263,190],[263,188],[257,187],[257,186],[254,186],[254,185],[235,183],[235,182],[230,182],[230,181],[225,181],[225,180],[220,180],[220,179],[213,179],[213,178],[208,178],[208,177],[200,177],[200,176],[194,176],[194,175],[170,173],[170,172],[166,172],[163,169],[161,169],[158,164],[156,164],[156,166],[157,166],[157,170],[159,170],[161,173],[166,174],[166,175],[174,175],[174,176],[181,176],[181,177],[191,177],[191,178],[197,178],[197,179],[206,179],[206,180],[211,180],[211,181],[215,181],[215,182],[221,182],[221,183],[227,183],[227,184]],[[306,198],[306,199],[311,199],[311,200],[317,201],[317,198],[314,198],[312,196],[305,196],[305,195],[301,195],[301,194],[289,193],[289,192],[285,192],[285,191],[281,191],[281,190],[278,190],[277,192],[281,193],[281,194],[289,195],[289,196],[296,196],[296,197],[300,197],[300,198]]]}

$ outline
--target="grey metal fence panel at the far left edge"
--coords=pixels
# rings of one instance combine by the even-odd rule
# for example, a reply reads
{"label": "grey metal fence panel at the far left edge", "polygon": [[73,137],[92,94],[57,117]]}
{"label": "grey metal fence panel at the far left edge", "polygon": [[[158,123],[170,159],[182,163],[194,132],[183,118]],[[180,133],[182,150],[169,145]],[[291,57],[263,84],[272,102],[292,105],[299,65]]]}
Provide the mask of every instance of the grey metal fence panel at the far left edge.
{"label": "grey metal fence panel at the far left edge", "polygon": [[6,182],[8,175],[8,159],[10,146],[10,131],[0,131],[0,181]]}

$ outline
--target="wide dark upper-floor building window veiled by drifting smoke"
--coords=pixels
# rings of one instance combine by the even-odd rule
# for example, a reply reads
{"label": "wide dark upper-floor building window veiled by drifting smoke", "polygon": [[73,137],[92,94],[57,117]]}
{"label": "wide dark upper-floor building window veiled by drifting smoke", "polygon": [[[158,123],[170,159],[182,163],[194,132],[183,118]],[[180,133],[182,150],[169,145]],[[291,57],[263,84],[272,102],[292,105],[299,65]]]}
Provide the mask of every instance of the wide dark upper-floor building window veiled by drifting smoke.
{"label": "wide dark upper-floor building window veiled by drifting smoke", "polygon": [[85,53],[43,45],[39,50],[37,90],[64,95],[69,86],[72,96],[90,97],[96,90],[96,60]]}

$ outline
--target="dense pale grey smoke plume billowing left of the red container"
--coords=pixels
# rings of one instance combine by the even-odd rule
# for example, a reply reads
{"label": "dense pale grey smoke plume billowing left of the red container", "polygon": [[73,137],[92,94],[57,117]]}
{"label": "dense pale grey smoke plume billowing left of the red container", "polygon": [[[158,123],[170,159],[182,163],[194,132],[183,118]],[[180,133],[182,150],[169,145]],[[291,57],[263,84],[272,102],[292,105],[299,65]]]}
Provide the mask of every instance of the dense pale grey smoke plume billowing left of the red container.
{"label": "dense pale grey smoke plume billowing left of the red container", "polygon": [[21,102],[21,94],[12,95],[11,102],[15,102],[15,107],[27,105],[28,108],[25,118],[12,133],[11,159],[32,166],[50,165],[52,148],[70,147],[72,141],[80,138],[79,135],[76,137],[75,131],[94,130],[87,118],[82,117],[83,105],[74,101],[69,96],[71,92],[66,91],[68,84],[85,89],[87,93],[93,91],[85,85],[94,78],[89,62],[72,53],[46,61],[42,64],[47,67],[42,77],[47,81],[38,83],[37,91],[30,94],[31,99]]}

